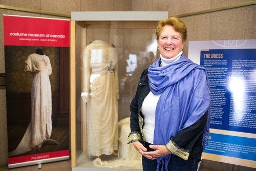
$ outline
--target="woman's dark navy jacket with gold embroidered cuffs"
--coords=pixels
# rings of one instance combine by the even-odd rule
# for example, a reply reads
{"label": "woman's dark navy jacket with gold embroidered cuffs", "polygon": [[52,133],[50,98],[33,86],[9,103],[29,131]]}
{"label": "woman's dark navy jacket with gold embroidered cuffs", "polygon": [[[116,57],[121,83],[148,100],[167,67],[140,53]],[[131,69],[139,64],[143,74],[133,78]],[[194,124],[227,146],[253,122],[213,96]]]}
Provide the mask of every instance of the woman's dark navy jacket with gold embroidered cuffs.
{"label": "woman's dark navy jacket with gold embroidered cuffs", "polygon": [[[150,93],[147,73],[147,69],[142,72],[135,97],[130,104],[131,133],[128,137],[128,143],[140,141],[144,144],[142,132],[144,116],[141,113],[141,106],[145,97]],[[189,157],[200,155],[203,152],[202,139],[203,129],[206,122],[207,113],[205,113],[196,123],[186,127],[186,129],[181,130],[176,136],[172,137],[166,144],[166,148],[173,154],[185,160],[187,160],[187,158],[183,157],[182,153],[188,154]],[[171,149],[169,148],[170,146]],[[175,153],[175,151],[177,153]]]}

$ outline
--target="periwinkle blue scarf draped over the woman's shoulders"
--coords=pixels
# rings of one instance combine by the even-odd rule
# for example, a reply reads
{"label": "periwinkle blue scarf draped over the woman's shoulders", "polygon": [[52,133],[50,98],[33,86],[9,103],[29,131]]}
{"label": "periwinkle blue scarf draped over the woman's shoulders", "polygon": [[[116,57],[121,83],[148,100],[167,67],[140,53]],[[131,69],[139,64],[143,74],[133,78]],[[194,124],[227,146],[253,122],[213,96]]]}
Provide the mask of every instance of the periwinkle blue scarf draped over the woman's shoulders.
{"label": "periwinkle blue scarf draped over the woman's shoulders", "polygon": [[[161,58],[148,68],[148,79],[153,94],[161,94],[156,106],[154,144],[166,145],[186,127],[194,124],[208,111],[203,131],[203,146],[209,131],[210,87],[206,70],[184,54],[167,66],[159,67]],[[170,155],[157,159],[167,170]]]}

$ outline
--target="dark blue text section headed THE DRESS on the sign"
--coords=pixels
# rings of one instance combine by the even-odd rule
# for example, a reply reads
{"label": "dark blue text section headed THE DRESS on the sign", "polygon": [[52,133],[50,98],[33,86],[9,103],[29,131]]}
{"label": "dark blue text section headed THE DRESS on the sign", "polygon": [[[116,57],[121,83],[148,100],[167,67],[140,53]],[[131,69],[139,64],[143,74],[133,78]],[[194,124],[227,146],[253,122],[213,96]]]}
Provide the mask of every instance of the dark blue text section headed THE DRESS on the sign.
{"label": "dark blue text section headed THE DRESS on the sign", "polygon": [[200,64],[210,82],[210,128],[255,134],[256,49],[201,50]]}

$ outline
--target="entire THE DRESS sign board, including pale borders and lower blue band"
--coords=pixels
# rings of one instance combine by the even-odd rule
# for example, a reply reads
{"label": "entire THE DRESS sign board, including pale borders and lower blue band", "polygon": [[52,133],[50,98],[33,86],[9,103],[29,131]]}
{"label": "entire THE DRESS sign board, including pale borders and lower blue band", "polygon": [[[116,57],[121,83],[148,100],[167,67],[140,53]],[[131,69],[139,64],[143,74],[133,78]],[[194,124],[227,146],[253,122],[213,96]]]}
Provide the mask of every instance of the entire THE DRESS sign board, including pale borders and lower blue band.
{"label": "entire THE DRESS sign board, including pale borders and lower blue band", "polygon": [[256,168],[256,39],[189,41],[206,68],[211,122],[202,159]]}

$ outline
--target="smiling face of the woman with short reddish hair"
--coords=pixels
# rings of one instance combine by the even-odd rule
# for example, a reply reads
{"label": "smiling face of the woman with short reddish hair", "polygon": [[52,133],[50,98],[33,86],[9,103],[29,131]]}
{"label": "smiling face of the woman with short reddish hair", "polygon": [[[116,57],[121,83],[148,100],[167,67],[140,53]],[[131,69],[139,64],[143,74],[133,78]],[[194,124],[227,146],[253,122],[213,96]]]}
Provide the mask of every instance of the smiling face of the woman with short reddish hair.
{"label": "smiling face of the woman with short reddish hair", "polygon": [[173,26],[165,25],[158,39],[158,48],[164,58],[173,58],[181,49],[183,49],[184,42],[179,32],[175,31]]}

